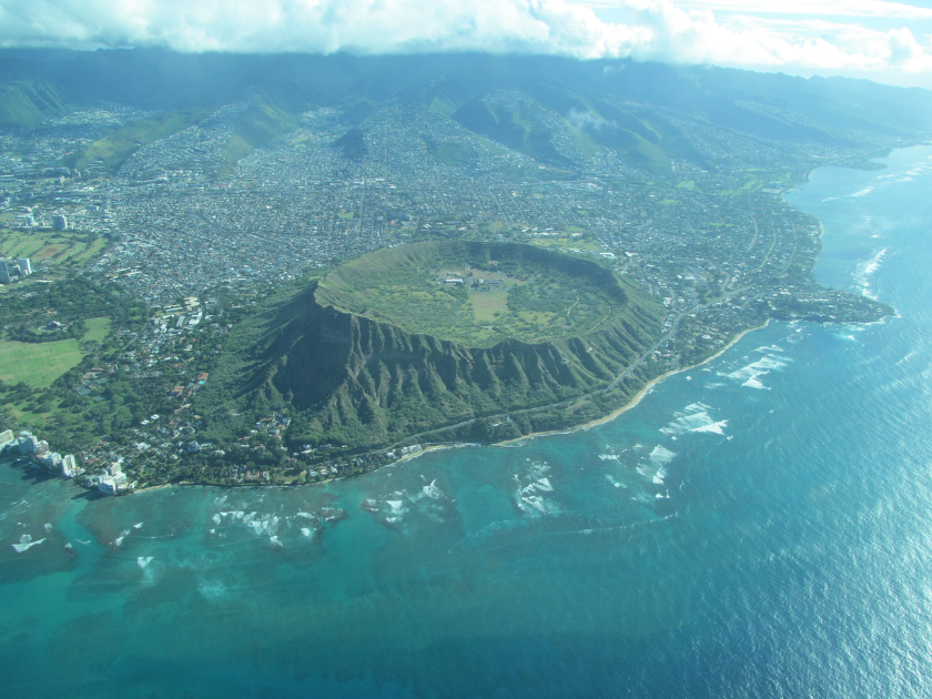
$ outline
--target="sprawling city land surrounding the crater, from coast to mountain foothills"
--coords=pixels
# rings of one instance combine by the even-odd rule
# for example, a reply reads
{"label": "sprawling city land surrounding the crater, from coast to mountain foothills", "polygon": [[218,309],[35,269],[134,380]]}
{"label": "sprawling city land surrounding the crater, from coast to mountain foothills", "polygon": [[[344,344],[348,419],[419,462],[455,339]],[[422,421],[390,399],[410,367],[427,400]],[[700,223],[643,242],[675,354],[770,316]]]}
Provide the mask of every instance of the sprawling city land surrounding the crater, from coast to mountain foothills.
{"label": "sprawling city land surrounding the crater, from coast to mountain foothills", "polygon": [[533,114],[546,148],[483,135],[437,101],[352,121],[312,109],[257,148],[237,131],[250,105],[232,103],[123,158],[116,140],[158,114],[102,104],[0,132],[0,448],[112,494],[322,482],[415,454],[432,439],[298,440],[286,403],[254,402],[220,434],[199,395],[239,323],[335,265],[416,241],[517,242],[614,269],[663,307],[644,378],[769,318],[888,312],[812,281],[819,223],[781,194],[816,166],[865,166],[895,139],[788,144],[619,105],[646,132],[652,115],[672,124],[678,156],[649,138],[601,145],[584,123],[596,116],[521,92],[483,104]]}

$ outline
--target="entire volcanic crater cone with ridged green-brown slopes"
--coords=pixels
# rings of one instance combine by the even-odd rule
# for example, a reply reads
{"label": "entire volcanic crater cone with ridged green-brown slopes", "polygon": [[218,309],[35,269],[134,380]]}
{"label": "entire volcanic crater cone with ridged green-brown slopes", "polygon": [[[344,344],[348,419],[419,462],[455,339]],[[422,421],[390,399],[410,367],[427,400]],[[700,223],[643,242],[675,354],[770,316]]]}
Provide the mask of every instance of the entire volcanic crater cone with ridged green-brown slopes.
{"label": "entire volcanic crater cone with ridged green-brown slopes", "polygon": [[[476,282],[480,270],[508,288],[437,284],[438,270],[467,266]],[[194,409],[221,445],[287,414],[288,450],[565,427],[615,405],[594,396],[652,347],[662,315],[589,260],[465,241],[387,249],[276,295],[234,326]],[[488,317],[498,330],[483,336]],[[642,364],[611,395],[629,395],[652,371]],[[523,422],[503,415],[511,412]]]}

